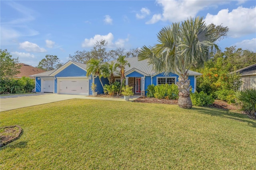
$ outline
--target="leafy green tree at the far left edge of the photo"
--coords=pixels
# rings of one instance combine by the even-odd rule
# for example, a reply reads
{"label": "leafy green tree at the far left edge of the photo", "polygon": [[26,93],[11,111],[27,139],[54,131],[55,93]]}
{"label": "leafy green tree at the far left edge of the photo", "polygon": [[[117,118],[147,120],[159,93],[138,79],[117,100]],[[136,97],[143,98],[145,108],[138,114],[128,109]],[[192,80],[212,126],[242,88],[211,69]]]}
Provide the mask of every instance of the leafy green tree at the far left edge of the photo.
{"label": "leafy green tree at the far left edge of the photo", "polygon": [[0,49],[0,76],[1,79],[13,78],[20,73],[19,69],[22,65],[19,64],[19,58],[12,58],[12,55],[7,49]]}

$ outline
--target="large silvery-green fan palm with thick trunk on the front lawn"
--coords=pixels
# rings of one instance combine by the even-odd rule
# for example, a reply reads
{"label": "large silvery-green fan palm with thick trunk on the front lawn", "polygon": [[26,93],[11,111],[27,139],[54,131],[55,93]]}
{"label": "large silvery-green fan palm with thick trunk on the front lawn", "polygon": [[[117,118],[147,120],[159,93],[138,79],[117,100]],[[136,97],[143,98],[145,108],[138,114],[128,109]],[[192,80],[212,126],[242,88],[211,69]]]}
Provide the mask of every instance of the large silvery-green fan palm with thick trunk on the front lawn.
{"label": "large silvery-green fan palm with thick trunk on the front lawn", "polygon": [[179,99],[181,108],[191,109],[190,80],[188,71],[191,66],[200,68],[210,59],[214,49],[219,50],[214,42],[220,36],[213,31],[213,26],[206,26],[203,18],[190,18],[184,22],[173,23],[158,33],[158,44],[154,47],[142,47],[139,60],[148,59],[154,71],[176,73],[178,77]]}

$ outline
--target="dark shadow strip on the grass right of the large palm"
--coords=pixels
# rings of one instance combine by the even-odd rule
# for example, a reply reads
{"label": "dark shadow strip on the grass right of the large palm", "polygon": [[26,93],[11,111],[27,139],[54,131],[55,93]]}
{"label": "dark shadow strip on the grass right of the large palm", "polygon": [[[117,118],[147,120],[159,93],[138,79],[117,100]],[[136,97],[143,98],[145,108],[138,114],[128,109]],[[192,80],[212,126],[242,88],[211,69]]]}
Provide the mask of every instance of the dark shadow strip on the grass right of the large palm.
{"label": "dark shadow strip on the grass right of the large palm", "polygon": [[256,128],[256,121],[250,119],[249,117],[241,113],[236,113],[236,112],[227,111],[223,109],[207,108],[207,107],[200,107],[200,108],[192,107],[192,110],[198,111],[198,113],[202,113],[206,115],[218,116],[218,117],[232,119],[235,121],[245,122],[248,124],[248,126]]}

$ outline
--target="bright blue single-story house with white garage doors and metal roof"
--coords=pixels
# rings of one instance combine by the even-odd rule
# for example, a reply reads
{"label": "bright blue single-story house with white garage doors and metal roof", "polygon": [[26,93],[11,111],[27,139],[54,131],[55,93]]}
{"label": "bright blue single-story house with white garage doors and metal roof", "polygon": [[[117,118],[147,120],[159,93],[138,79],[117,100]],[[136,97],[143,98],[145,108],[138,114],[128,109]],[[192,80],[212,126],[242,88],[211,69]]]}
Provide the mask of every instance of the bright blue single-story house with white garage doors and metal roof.
{"label": "bright blue single-story house with white garage doors and metal roof", "polygon": [[[126,58],[130,67],[125,67],[125,83],[132,86],[134,93],[145,92],[148,85],[172,84],[178,80],[178,75],[169,73],[155,73],[152,65],[148,65],[146,60],[138,61],[137,57]],[[116,63],[116,60],[114,60]],[[62,67],[44,73],[31,75],[35,77],[36,92],[56,93],[56,94],[76,94],[92,95],[90,88],[92,83],[97,83],[98,94],[103,93],[103,87],[98,76],[86,76],[86,64],[75,61],[68,61]],[[190,85],[192,92],[196,91],[196,78],[202,75],[195,71],[189,71]],[[118,72],[114,75],[115,81],[120,81]],[[108,84],[108,79],[101,78],[103,84]]]}

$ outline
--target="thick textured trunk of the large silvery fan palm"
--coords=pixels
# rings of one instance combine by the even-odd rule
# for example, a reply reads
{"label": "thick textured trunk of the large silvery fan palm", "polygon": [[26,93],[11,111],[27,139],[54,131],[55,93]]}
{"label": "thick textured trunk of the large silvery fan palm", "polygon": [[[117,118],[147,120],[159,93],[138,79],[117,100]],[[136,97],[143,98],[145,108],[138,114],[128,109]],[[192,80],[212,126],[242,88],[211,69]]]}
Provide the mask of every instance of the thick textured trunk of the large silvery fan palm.
{"label": "thick textured trunk of the large silvery fan palm", "polygon": [[188,80],[188,75],[183,75],[178,78],[179,82],[177,82],[178,90],[179,90],[179,99],[178,106],[183,109],[191,109],[192,101],[190,99],[190,80]]}

